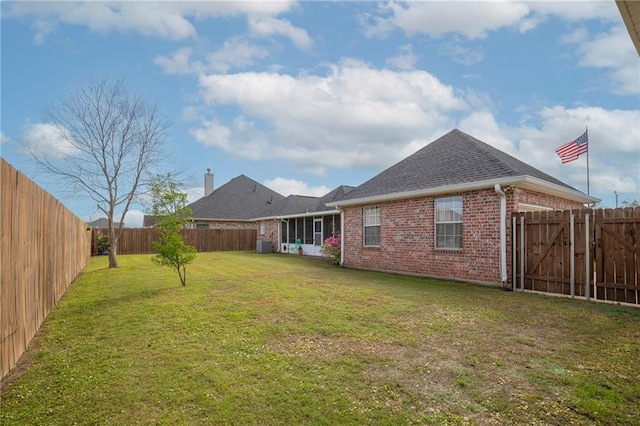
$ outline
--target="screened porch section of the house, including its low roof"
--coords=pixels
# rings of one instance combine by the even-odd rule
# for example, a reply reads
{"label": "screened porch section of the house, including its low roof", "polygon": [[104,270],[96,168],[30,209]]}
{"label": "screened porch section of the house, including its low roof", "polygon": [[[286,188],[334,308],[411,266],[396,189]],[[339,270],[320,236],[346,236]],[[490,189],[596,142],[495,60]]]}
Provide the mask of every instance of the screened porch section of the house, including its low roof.
{"label": "screened porch section of the house, including its low roof", "polygon": [[340,231],[340,211],[327,206],[349,193],[342,185],[322,197],[289,195],[271,204],[255,220],[258,241],[271,241],[272,251],[305,256],[321,256],[322,242]]}

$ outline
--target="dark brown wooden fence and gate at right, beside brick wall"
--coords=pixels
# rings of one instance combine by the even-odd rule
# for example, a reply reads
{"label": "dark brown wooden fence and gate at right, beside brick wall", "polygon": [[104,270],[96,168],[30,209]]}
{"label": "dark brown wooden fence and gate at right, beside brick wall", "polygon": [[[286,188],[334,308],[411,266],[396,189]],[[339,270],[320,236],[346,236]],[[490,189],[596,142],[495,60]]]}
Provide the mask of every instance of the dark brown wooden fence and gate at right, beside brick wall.
{"label": "dark brown wooden fence and gate at right, beside brick wall", "polygon": [[640,208],[512,215],[513,289],[640,305]]}

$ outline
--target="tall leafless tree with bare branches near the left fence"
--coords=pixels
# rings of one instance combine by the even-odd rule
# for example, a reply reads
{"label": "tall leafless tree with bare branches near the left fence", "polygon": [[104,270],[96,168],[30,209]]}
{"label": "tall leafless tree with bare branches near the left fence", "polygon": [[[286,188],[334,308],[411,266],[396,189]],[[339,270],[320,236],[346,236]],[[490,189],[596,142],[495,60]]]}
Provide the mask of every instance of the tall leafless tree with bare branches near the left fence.
{"label": "tall leafless tree with bare branches near the left fence", "polygon": [[146,176],[164,159],[167,125],[123,79],[106,77],[79,83],[51,109],[49,120],[63,154],[37,143],[27,144],[27,152],[67,189],[97,203],[108,220],[109,267],[117,268],[121,226]]}

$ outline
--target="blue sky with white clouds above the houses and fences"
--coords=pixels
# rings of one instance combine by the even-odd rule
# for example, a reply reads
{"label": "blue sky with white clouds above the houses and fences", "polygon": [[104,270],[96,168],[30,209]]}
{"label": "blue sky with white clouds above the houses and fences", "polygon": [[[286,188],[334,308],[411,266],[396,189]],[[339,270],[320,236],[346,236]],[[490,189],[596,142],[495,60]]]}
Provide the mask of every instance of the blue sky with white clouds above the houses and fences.
{"label": "blue sky with white clouds above the houses and fences", "polygon": [[[608,1],[3,1],[2,157],[89,221],[25,144],[47,108],[124,78],[170,122],[194,201],[204,173],[283,195],[357,186],[458,128],[587,192],[640,200],[640,58]],[[141,226],[134,205],[127,226]]]}

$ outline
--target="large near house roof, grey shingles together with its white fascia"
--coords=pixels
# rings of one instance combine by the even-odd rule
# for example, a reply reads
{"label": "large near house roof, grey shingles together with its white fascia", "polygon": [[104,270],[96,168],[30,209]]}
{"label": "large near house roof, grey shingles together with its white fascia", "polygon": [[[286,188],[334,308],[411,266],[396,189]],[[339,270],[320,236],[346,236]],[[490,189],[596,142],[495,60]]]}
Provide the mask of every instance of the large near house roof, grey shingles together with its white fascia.
{"label": "large near house roof, grey shingles together with its white fascia", "polygon": [[458,129],[369,179],[330,207],[504,185],[535,187],[579,202],[595,202],[575,188]]}

